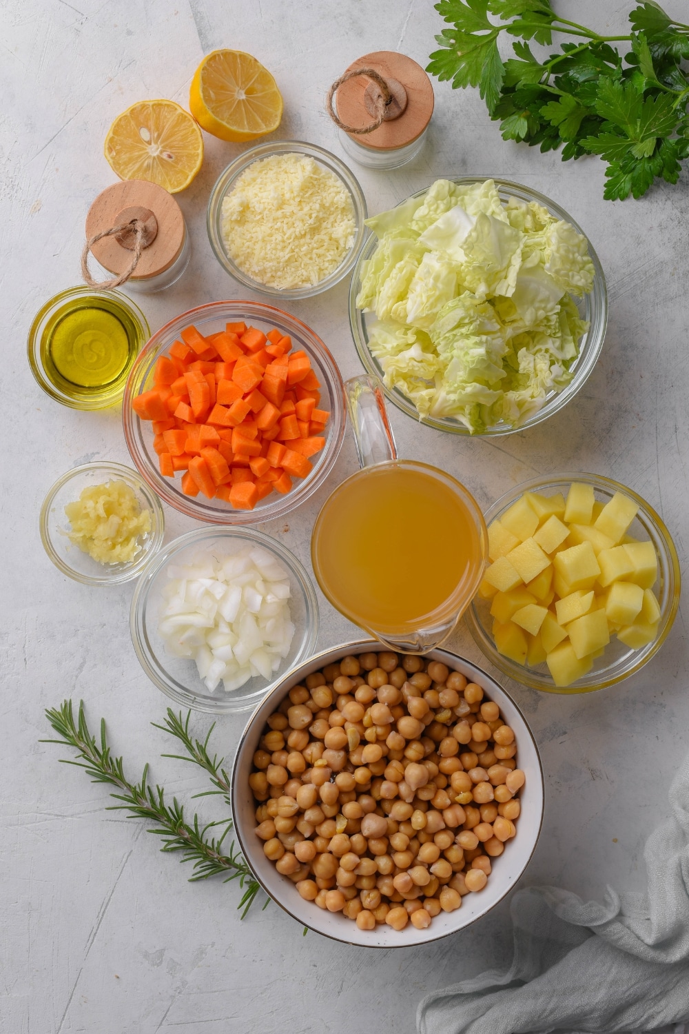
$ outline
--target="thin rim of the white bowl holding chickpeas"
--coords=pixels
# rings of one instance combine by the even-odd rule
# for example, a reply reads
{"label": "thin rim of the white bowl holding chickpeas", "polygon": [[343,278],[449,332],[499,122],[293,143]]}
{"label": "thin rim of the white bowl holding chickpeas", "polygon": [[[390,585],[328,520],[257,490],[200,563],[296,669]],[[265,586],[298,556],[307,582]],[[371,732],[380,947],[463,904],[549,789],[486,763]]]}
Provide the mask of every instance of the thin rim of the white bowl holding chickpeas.
{"label": "thin rim of the white bowl holding chickpeas", "polygon": [[[522,720],[522,722],[524,724],[524,728],[525,728],[526,732],[528,733],[529,738],[531,740],[531,747],[533,748],[533,754],[534,754],[534,758],[535,758],[535,761],[536,761],[536,766],[537,766],[537,769],[538,769],[538,781],[537,781],[537,784],[536,784],[536,788],[539,791],[539,803],[538,803],[538,807],[539,807],[539,812],[540,812],[540,814],[538,816],[537,829],[536,829],[535,834],[533,837],[533,844],[531,845],[531,849],[529,851],[528,857],[524,861],[524,863],[523,863],[521,870],[519,871],[519,873],[516,873],[516,875],[507,882],[507,886],[505,887],[504,891],[502,893],[500,893],[500,896],[496,901],[494,901],[493,904],[491,904],[487,908],[484,908],[484,910],[481,911],[478,915],[474,916],[472,919],[470,919],[468,922],[464,923],[461,926],[457,926],[453,930],[443,931],[442,933],[436,933],[436,934],[434,934],[432,936],[424,936],[424,935],[428,935],[428,931],[419,930],[419,931],[416,932],[417,936],[415,936],[411,941],[405,942],[404,944],[394,944],[394,943],[393,944],[380,944],[380,943],[374,943],[372,940],[371,941],[364,940],[363,937],[359,938],[359,939],[351,939],[351,938],[348,938],[348,937],[337,937],[333,933],[325,932],[325,931],[319,929],[317,924],[315,924],[315,923],[312,924],[312,923],[308,922],[307,920],[304,919],[303,916],[296,916],[296,915],[294,915],[294,913],[290,911],[290,909],[287,907],[287,905],[284,904],[282,900],[278,900],[274,895],[273,891],[270,890],[264,885],[261,877],[251,869],[251,864],[249,862],[250,852],[247,853],[246,845],[245,845],[245,839],[248,842],[248,835],[245,839],[243,839],[243,830],[242,830],[241,823],[238,823],[238,821],[237,821],[237,815],[240,814],[240,810],[237,807],[237,797],[238,797],[237,786],[238,786],[238,766],[239,766],[239,760],[241,758],[243,750],[246,749],[246,743],[247,743],[247,739],[248,739],[249,734],[250,734],[250,730],[253,729],[255,723],[259,720],[259,714],[262,714],[263,709],[268,707],[269,700],[271,700],[271,706],[272,706],[273,704],[276,704],[278,702],[277,701],[278,695],[280,695],[280,699],[282,700],[282,698],[286,695],[286,693],[289,692],[289,688],[291,688],[291,687],[284,688],[285,683],[288,680],[292,680],[292,679],[294,679],[297,676],[301,678],[304,674],[308,674],[308,672],[306,671],[306,669],[308,669],[308,668],[311,668],[313,670],[314,667],[316,667],[316,668],[322,667],[323,663],[327,663],[327,659],[330,659],[331,661],[336,660],[336,655],[338,655],[338,656],[346,656],[347,652],[362,652],[362,651],[366,651],[367,647],[380,646],[380,645],[381,644],[376,639],[370,639],[370,638],[348,641],[348,642],[345,642],[345,643],[339,643],[339,644],[337,644],[335,646],[328,647],[327,649],[320,650],[319,652],[314,653],[312,657],[310,657],[303,664],[301,664],[301,665],[294,665],[292,668],[290,668],[289,671],[285,672],[285,674],[282,676],[280,682],[271,690],[270,694],[267,694],[267,696],[261,700],[260,704],[252,712],[252,714],[250,716],[249,720],[247,721],[247,724],[246,724],[246,726],[245,726],[245,728],[244,728],[244,730],[242,732],[242,735],[240,736],[240,738],[238,740],[237,750],[234,752],[234,758],[232,760],[231,774],[230,774],[230,786],[231,786],[230,803],[231,803],[231,813],[232,813],[232,819],[233,819],[233,830],[234,830],[234,833],[237,835],[237,840],[239,842],[239,845],[240,845],[242,854],[244,856],[244,859],[247,862],[247,864],[249,865],[249,869],[250,869],[250,871],[252,873],[253,878],[259,884],[259,886],[261,887],[261,889],[263,890],[263,892],[265,894],[268,894],[268,896],[270,899],[272,899],[272,901],[275,902],[275,904],[278,905],[283,910],[283,912],[286,912],[287,915],[289,915],[292,919],[294,919],[300,924],[305,925],[309,930],[312,930],[314,933],[320,934],[322,937],[327,937],[331,940],[338,941],[338,942],[340,942],[342,944],[349,944],[352,947],[370,947],[370,948],[381,948],[381,949],[386,950],[386,949],[389,949],[389,948],[417,947],[419,945],[430,944],[433,941],[442,940],[443,938],[449,937],[452,934],[460,933],[460,931],[467,929],[468,926],[472,925],[474,922],[477,922],[479,919],[482,919],[483,916],[486,916],[486,915],[489,914],[489,912],[492,912],[506,898],[506,895],[511,890],[514,889],[514,887],[516,886],[516,884],[519,883],[519,881],[523,877],[524,873],[526,872],[526,870],[527,870],[527,868],[528,868],[530,861],[531,861],[531,859],[533,858],[534,852],[535,852],[536,847],[538,845],[538,841],[540,839],[540,833],[541,833],[542,825],[543,825],[543,816],[544,816],[545,783],[544,783],[544,778],[543,778],[543,766],[542,766],[542,762],[541,762],[541,759],[540,759],[540,753],[538,751],[538,744],[536,742],[535,736],[534,736],[534,734],[533,734],[533,732],[531,730],[531,727],[530,727],[529,723],[527,722],[526,718],[524,717],[522,708],[519,706],[519,704],[513,699],[513,697],[509,693],[507,693],[507,691],[503,687],[501,687],[500,683],[492,675],[490,675],[487,671],[484,671],[482,668],[480,668],[477,664],[474,664],[474,662],[470,661],[468,658],[462,657],[459,653],[455,653],[451,650],[444,649],[442,646],[436,647],[435,649],[432,649],[432,650],[429,650],[429,652],[426,653],[425,657],[429,657],[429,658],[433,658],[433,659],[438,659],[438,660],[444,660],[444,659],[449,658],[449,659],[451,659],[452,662],[459,662],[460,665],[463,665],[463,666],[465,666],[467,668],[472,669],[472,671],[475,672],[475,673],[477,673],[480,676],[480,678],[486,679],[486,682],[490,687],[489,692],[493,692],[494,688],[497,687],[499,693],[503,694],[507,698],[507,700],[509,701],[509,704],[514,708],[514,710],[516,711],[516,713],[519,714],[520,719]],[[283,691],[282,693],[280,693],[281,690]],[[534,784],[533,777],[530,777],[529,786],[531,787],[533,784]],[[292,886],[293,886],[293,884],[292,884]],[[309,903],[309,904],[313,905],[312,902]],[[461,912],[461,910],[458,910],[458,911]],[[319,914],[320,914],[320,910],[316,909],[316,915],[319,915]],[[352,923],[351,925],[354,927],[354,930],[356,930],[356,924],[355,923]],[[432,927],[430,927],[430,929],[432,930]],[[353,933],[353,931],[352,931],[352,933]]]}

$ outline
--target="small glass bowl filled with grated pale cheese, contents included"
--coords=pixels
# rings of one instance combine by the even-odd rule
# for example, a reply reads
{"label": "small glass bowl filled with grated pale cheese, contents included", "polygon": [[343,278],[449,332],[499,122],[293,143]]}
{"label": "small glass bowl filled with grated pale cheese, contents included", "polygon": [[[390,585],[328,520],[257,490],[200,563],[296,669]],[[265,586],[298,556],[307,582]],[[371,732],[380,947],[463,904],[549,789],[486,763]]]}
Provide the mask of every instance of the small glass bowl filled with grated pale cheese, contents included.
{"label": "small glass bowl filled with grated pale cheese, contents included", "polygon": [[353,174],[315,144],[258,144],[211,191],[208,234],[220,265],[253,291],[311,298],[351,272],[367,234]]}

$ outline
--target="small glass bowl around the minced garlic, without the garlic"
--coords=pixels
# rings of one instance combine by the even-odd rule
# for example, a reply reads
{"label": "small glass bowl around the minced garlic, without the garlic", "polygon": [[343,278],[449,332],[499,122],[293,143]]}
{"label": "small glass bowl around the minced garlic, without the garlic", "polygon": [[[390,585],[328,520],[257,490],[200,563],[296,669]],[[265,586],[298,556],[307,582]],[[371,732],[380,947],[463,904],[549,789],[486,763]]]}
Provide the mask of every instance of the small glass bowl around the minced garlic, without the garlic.
{"label": "small glass bowl around the minced garlic, without the garlic", "polygon": [[[140,538],[140,549],[127,564],[99,564],[67,538],[69,521],[65,506],[74,503],[85,488],[107,481],[124,481],[134,491],[142,510],[151,514],[151,530]],[[121,463],[85,463],[59,478],[40,508],[40,540],[45,552],[63,574],[85,585],[118,585],[138,577],[147,561],[162,545],[165,517],[160,499],[135,470]]]}

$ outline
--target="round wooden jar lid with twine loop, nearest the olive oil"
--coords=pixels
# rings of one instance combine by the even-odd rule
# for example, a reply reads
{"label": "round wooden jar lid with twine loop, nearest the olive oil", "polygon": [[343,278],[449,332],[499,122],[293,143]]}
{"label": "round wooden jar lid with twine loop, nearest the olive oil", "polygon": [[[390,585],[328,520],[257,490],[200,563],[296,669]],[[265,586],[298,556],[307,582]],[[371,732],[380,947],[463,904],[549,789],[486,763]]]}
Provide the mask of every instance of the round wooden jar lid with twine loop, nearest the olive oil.
{"label": "round wooden jar lid with twine loop, nearest the olive oil", "polygon": [[[123,180],[105,187],[89,209],[86,236],[90,240],[134,217],[147,223],[150,243],[142,251],[132,280],[148,280],[169,269],[184,245],[182,209],[163,187],[145,180]],[[131,263],[133,244],[126,236],[118,236],[121,240],[111,236],[96,241],[91,251],[103,269],[119,276]]]}

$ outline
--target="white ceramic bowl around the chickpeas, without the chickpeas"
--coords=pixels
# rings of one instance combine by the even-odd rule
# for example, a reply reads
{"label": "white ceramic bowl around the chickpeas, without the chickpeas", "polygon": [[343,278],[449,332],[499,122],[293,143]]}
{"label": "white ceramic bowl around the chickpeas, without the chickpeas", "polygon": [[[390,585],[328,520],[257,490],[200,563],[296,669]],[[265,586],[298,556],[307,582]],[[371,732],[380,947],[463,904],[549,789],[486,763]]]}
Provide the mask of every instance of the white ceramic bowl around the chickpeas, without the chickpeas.
{"label": "white ceramic bowl around the chickpeas, without the chickpeas", "polygon": [[427,930],[416,930],[411,923],[401,931],[390,926],[376,925],[375,930],[359,930],[352,919],[341,913],[325,912],[313,902],[300,896],[294,884],[281,876],[274,863],[263,854],[262,841],[256,828],[254,797],[249,787],[252,758],[258,748],[258,740],[265,721],[279,706],[292,686],[297,686],[313,671],[326,664],[333,664],[349,653],[364,653],[379,647],[371,639],[344,643],[317,653],[305,664],[292,668],[280,682],[265,696],[251,716],[240,740],[232,768],[232,816],[237,839],[242,852],[261,887],[280,908],[297,922],[315,930],[325,937],[346,944],[357,944],[367,948],[408,948],[415,944],[428,944],[448,934],[456,934],[490,912],[516,884],[536,847],[543,816],[543,773],[538,749],[524,716],[504,690],[476,665],[465,661],[445,649],[434,649],[428,653],[433,661],[441,661],[448,668],[461,671],[471,681],[478,682],[486,690],[489,699],[500,707],[505,721],[514,730],[518,747],[519,766],[526,774],[526,783],[521,792],[522,814],[518,821],[518,832],[503,854],[493,859],[493,872],[486,888],[478,893],[470,893],[462,899],[462,907],[455,912],[441,912]]}

